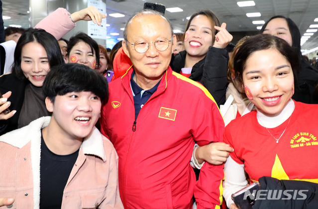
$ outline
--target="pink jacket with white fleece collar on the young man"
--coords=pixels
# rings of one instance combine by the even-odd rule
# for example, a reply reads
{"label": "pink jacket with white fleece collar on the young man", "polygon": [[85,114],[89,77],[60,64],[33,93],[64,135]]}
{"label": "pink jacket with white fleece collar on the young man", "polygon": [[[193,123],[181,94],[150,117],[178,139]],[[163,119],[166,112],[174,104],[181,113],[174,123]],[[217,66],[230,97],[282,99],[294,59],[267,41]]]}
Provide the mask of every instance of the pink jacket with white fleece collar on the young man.
{"label": "pink jacket with white fleece collar on the young man", "polygon": [[[41,128],[49,122],[42,117],[0,137],[0,197],[14,198],[13,209],[39,209]],[[61,209],[123,209],[117,167],[114,147],[94,128],[80,148]]]}

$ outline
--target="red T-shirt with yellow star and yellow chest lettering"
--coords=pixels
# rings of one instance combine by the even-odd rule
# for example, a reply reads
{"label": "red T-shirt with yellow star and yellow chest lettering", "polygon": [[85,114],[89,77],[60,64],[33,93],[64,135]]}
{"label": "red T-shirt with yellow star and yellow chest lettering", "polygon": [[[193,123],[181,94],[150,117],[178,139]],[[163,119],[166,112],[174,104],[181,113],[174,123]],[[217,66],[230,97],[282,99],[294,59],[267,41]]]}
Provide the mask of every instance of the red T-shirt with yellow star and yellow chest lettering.
{"label": "red T-shirt with yellow star and yellow chest lettering", "polygon": [[[239,164],[244,164],[251,181],[262,176],[277,178],[273,172],[276,155],[289,179],[318,179],[318,105],[295,102],[295,110],[284,135],[276,140],[267,129],[259,125],[256,111],[231,121],[224,131],[224,142],[234,148],[230,155]],[[314,120],[313,120],[314,119]],[[278,139],[288,120],[280,126],[268,129]],[[302,142],[302,140],[304,140]],[[308,160],[310,163],[307,163]],[[280,179],[281,180],[281,179]],[[318,183],[318,182],[316,182]]]}

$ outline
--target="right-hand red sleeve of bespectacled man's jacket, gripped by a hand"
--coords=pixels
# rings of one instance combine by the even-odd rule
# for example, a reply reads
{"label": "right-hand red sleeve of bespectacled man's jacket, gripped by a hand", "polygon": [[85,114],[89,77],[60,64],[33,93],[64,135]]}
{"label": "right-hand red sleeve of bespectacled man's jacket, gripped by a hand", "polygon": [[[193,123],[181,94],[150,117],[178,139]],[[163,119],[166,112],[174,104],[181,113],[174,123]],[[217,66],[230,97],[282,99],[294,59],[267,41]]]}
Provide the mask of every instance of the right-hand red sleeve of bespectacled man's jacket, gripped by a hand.
{"label": "right-hand red sleeve of bespectacled man's jacket, gripped by a hand", "polygon": [[[224,130],[220,112],[211,94],[206,89],[205,91],[194,113],[197,117],[193,138],[200,146],[222,141]],[[194,189],[197,209],[219,209],[222,203],[223,180],[223,164],[212,165],[206,162],[203,165]]]}

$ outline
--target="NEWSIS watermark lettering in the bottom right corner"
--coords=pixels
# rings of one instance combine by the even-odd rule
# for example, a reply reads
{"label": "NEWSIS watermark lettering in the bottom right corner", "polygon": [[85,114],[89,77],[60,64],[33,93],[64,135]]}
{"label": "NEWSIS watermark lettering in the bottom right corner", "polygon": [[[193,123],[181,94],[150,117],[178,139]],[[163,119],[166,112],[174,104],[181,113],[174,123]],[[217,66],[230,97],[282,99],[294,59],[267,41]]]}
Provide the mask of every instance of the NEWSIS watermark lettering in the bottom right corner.
{"label": "NEWSIS watermark lettering in the bottom right corner", "polygon": [[305,200],[309,190],[246,190],[243,200]]}

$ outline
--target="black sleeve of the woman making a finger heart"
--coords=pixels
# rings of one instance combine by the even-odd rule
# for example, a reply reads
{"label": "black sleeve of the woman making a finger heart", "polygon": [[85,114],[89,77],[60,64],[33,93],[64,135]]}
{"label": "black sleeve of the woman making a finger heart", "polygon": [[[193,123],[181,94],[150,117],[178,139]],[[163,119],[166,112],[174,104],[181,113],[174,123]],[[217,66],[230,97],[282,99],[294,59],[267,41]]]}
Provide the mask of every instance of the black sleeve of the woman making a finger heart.
{"label": "black sleeve of the woman making a finger heart", "polygon": [[209,47],[203,65],[203,75],[200,83],[209,90],[218,107],[224,104],[226,100],[228,60],[228,53],[225,49]]}

